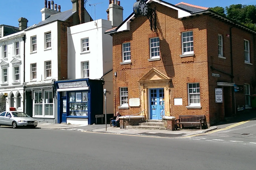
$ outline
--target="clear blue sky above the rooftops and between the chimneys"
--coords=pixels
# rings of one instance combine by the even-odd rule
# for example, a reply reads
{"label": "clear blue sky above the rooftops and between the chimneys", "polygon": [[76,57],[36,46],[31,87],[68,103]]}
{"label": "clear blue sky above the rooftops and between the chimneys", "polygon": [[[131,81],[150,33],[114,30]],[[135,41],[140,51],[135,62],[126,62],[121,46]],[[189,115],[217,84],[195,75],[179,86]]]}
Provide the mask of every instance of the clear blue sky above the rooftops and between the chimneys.
{"label": "clear blue sky above the rooftops and between the chimneys", "polygon": [[[119,0],[123,7],[123,20],[133,12],[133,4],[136,0]],[[29,20],[28,26],[41,21],[40,10],[45,7],[45,0],[0,0],[0,25],[18,27],[18,18],[25,17]],[[180,2],[201,7],[226,7],[232,4],[256,5],[255,0],[165,0],[170,4]],[[4,5],[3,5],[4,4]],[[54,0],[54,4],[60,5],[60,11],[72,9],[71,0]],[[107,19],[106,9],[109,0],[87,0],[86,9],[93,19]]]}

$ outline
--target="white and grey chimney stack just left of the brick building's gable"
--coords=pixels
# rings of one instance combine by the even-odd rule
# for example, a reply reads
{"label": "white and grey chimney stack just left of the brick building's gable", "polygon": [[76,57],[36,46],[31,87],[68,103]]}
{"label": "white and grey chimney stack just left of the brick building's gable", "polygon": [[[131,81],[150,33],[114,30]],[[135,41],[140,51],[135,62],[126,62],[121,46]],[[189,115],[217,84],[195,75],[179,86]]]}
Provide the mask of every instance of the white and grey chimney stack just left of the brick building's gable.
{"label": "white and grey chimney stack just left of the brick building's gable", "polygon": [[117,27],[123,21],[123,7],[120,6],[120,1],[109,0],[109,8],[106,10],[108,20],[112,21],[112,26]]}

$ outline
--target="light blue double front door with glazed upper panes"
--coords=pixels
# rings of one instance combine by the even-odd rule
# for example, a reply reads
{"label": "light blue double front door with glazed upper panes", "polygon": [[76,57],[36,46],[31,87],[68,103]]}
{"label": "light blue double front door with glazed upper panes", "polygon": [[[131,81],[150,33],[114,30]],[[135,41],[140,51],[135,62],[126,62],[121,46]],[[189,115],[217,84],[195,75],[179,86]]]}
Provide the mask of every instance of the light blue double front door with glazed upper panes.
{"label": "light blue double front door with glazed upper panes", "polygon": [[164,89],[150,89],[150,118],[162,119],[164,115]]}

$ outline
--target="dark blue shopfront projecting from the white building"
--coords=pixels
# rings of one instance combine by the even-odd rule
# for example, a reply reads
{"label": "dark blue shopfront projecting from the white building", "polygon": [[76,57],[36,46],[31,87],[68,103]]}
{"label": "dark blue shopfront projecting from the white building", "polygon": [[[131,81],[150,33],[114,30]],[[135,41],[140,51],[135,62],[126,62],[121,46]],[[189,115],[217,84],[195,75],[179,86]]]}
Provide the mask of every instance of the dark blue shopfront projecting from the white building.
{"label": "dark blue shopfront projecting from the white building", "polygon": [[95,124],[95,115],[103,114],[103,84],[91,79],[56,81],[57,123]]}

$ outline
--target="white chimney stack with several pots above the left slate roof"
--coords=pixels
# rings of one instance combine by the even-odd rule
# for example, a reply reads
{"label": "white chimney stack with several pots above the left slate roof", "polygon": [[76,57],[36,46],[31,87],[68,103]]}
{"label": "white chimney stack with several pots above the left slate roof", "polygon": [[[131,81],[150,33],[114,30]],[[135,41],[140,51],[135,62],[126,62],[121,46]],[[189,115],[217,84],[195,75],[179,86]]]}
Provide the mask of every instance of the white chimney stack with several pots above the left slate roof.
{"label": "white chimney stack with several pots above the left slate roof", "polygon": [[[54,10],[54,7],[55,7],[55,10]],[[47,0],[45,0],[45,8],[41,9],[42,20],[46,20],[51,15],[57,14],[59,12],[60,12],[60,6],[59,6],[59,11],[57,11],[57,4],[54,5],[54,1],[47,2]]]}

